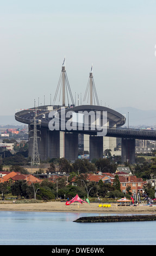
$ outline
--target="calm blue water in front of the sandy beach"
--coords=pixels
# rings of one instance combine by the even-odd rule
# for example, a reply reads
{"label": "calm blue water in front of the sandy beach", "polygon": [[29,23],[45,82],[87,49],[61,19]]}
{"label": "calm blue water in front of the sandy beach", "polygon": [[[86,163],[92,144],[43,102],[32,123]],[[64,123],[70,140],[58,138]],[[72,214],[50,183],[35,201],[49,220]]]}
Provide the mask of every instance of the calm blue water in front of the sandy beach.
{"label": "calm blue water in front of the sandy beach", "polygon": [[104,215],[0,211],[0,245],[156,245],[156,221],[73,222]]}

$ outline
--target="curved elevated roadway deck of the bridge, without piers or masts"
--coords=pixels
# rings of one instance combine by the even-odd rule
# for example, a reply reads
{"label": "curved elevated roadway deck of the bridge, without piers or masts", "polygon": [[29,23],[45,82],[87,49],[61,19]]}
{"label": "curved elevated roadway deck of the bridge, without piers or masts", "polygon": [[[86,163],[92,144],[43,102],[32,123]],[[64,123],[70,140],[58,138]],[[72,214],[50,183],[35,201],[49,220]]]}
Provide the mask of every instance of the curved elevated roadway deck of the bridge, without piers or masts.
{"label": "curved elevated roadway deck of the bridge, without piers or masts", "polygon": [[[156,141],[156,131],[155,130],[128,129],[128,128],[120,127],[126,122],[126,119],[123,117],[123,115],[114,111],[113,109],[109,109],[109,108],[105,108],[105,107],[101,107],[101,106],[97,106],[97,107],[88,105],[88,106],[85,106],[85,109],[86,110],[90,109],[90,110],[108,111],[110,126],[107,127],[107,135],[106,135],[107,137],[145,139],[145,140]],[[56,108],[58,108],[58,106]],[[82,110],[82,106],[73,107],[72,109],[73,109],[73,111],[78,112],[78,111]],[[66,111],[71,111],[72,109],[66,108]],[[84,106],[83,106],[83,111],[84,111]],[[38,120],[37,123],[40,123],[41,127],[48,129],[49,121],[51,120],[51,118],[48,117],[49,112],[50,111],[46,109],[46,106],[42,106],[39,108],[26,109],[26,110],[17,112],[15,114],[15,119],[24,124],[31,124],[31,123],[33,123],[33,120],[34,120],[34,117],[36,114],[37,115],[36,119]],[[45,117],[43,117],[44,114],[45,114]],[[111,126],[111,123],[113,121],[116,122],[116,126],[118,126],[118,127]],[[59,124],[60,124],[60,122],[61,122],[60,119],[58,119]],[[96,129],[91,130],[91,126],[89,126],[89,131],[75,130],[74,132],[90,134],[90,135],[97,134],[97,130]]]}

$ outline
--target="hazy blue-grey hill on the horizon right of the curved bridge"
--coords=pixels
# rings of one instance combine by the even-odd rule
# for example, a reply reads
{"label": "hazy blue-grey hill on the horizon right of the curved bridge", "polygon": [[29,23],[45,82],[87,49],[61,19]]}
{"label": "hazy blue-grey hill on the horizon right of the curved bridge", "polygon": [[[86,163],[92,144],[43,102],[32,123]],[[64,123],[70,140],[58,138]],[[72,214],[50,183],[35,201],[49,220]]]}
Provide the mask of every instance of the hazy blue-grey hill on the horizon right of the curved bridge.
{"label": "hazy blue-grey hill on the horizon right of the curved bridge", "polygon": [[156,111],[141,110],[133,107],[121,107],[115,109],[117,112],[126,115],[126,126],[128,124],[129,112],[129,127],[130,126],[156,126]]}

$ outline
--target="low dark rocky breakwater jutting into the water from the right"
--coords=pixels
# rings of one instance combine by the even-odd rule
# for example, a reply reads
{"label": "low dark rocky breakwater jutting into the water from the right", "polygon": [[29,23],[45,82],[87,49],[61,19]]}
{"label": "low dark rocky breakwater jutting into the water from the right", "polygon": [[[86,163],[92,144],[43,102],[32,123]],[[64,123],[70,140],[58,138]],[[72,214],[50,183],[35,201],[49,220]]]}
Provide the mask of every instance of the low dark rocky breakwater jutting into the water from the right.
{"label": "low dark rocky breakwater jutting into the water from the right", "polygon": [[133,216],[90,216],[80,217],[74,222],[123,222],[123,221],[156,221],[156,215]]}

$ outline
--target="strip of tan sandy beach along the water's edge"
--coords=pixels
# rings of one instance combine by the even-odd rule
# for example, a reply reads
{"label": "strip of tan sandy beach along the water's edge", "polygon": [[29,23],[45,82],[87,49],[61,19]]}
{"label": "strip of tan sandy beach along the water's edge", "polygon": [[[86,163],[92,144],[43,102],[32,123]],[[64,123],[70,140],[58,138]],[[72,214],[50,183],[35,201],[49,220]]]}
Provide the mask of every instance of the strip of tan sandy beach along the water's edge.
{"label": "strip of tan sandy beach along the water's edge", "polygon": [[[104,204],[104,203],[103,203]],[[103,205],[102,204],[102,205]],[[156,206],[116,206],[111,203],[109,208],[99,207],[98,203],[72,203],[66,205],[65,202],[43,202],[30,204],[14,204],[13,202],[3,202],[0,204],[0,211],[38,211],[38,212],[90,212],[90,213],[111,213],[111,214],[156,214]]]}

